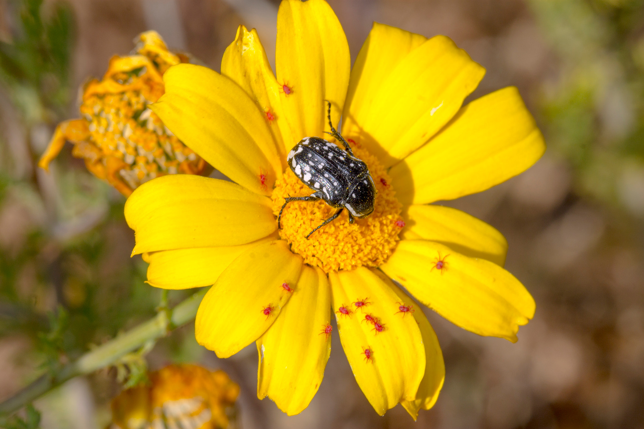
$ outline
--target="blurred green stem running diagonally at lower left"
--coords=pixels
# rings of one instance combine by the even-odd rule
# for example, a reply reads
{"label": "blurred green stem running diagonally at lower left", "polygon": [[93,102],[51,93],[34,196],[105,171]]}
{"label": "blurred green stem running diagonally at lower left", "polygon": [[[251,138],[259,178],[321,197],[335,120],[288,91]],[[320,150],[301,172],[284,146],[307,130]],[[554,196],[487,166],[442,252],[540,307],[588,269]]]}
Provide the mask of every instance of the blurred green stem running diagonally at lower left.
{"label": "blurred green stem running diagonally at lower left", "polygon": [[[207,288],[204,288],[192,297],[187,298],[178,306],[169,311],[170,325],[179,327],[194,319],[199,304],[204,298]],[[167,334],[168,315],[166,312],[158,313],[147,322],[130,329],[128,332],[117,336],[113,340],[100,345],[96,349],[85,353],[76,361],[70,362],[53,376],[44,374],[33,383],[17,392],[14,396],[0,403],[0,413],[11,413],[22,406],[32,402],[37,397],[49,392],[75,376],[90,374],[97,369],[107,367],[118,358],[134,351],[149,340],[156,340]]]}

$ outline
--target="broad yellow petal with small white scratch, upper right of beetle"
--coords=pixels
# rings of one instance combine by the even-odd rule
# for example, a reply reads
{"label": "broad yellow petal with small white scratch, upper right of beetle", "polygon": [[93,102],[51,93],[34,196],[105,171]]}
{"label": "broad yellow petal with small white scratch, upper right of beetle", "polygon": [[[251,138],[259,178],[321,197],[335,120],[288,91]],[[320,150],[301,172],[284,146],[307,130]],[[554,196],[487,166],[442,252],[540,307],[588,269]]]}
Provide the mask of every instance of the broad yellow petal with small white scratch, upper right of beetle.
{"label": "broad yellow petal with small white scratch, upper right of beetle", "polygon": [[439,131],[485,74],[448,37],[423,39],[374,24],[351,73],[343,135],[386,167]]}

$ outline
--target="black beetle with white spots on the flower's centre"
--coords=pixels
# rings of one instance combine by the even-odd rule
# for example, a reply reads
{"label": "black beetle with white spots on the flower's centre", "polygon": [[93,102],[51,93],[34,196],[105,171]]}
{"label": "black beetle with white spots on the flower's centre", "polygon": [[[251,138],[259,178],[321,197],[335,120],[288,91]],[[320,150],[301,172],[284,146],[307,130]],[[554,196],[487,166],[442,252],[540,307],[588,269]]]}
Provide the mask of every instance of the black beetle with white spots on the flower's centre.
{"label": "black beetle with white spots on the flower's centre", "polygon": [[[345,151],[319,137],[305,137],[289,152],[287,162],[290,169],[309,188],[315,192],[308,197],[287,197],[279,210],[279,221],[284,208],[291,201],[316,201],[323,199],[328,205],[339,208],[320,226],[308,233],[308,237],[319,228],[338,217],[346,208],[349,212],[349,223],[354,217],[366,217],[374,211],[375,185],[366,164],[355,158],[349,143],[340,135],[331,123],[331,103],[328,102],[328,125],[331,134],[345,146]],[[326,132],[326,131],[325,131]]]}

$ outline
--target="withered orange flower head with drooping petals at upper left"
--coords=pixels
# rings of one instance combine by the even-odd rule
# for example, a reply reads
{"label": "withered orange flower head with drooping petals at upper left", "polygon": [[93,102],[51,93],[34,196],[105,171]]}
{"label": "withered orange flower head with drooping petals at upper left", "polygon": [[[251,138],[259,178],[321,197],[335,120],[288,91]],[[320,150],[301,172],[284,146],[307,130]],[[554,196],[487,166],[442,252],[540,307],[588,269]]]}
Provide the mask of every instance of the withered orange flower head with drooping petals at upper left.
{"label": "withered orange flower head with drooping petals at upper left", "polygon": [[139,35],[138,55],[114,56],[102,80],[82,93],[82,119],[56,127],[39,166],[48,170],[66,141],[87,169],[125,196],[141,183],[164,174],[200,174],[205,161],[176,138],[147,106],[164,93],[162,75],[187,62],[167,50],[156,32]]}

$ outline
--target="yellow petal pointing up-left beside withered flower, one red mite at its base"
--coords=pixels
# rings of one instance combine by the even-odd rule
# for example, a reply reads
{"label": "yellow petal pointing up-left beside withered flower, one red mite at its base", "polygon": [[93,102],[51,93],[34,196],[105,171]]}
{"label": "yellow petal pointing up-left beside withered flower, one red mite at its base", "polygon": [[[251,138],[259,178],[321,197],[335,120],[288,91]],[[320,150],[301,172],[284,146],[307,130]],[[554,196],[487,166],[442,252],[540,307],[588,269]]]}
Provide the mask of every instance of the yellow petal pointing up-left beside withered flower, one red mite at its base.
{"label": "yellow petal pointing up-left beside withered flower, one red mite at its base", "polygon": [[251,97],[231,79],[193,64],[173,66],[163,78],[166,93],[150,108],[164,124],[236,183],[270,195],[281,161]]}

